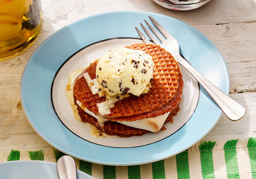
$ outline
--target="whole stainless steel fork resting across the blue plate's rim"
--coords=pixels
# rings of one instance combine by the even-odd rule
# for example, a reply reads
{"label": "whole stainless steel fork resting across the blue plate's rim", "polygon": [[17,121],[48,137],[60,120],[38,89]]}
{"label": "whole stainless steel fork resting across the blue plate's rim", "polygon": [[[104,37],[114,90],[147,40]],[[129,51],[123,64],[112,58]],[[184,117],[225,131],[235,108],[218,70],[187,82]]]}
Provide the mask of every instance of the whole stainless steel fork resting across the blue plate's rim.
{"label": "whole stainless steel fork resting across the blue plate's rim", "polygon": [[[167,31],[165,30],[155,19],[149,16],[149,19],[155,25],[155,27],[166,37],[166,40],[159,34],[154,27],[152,27],[146,20],[146,24],[152,30],[152,32],[158,37],[158,39],[162,42],[160,43],[158,39],[156,39],[151,32],[140,23],[143,30],[148,34],[151,40],[165,48],[169,51],[175,60],[180,63],[185,69],[187,69],[192,76],[201,84],[201,86],[205,89],[205,91],[212,97],[215,103],[220,107],[223,113],[233,121],[237,121],[245,116],[246,110],[245,108],[231,99],[228,95],[223,93],[219,88],[213,85],[210,81],[208,81],[204,76],[202,76],[198,71],[196,71],[184,58],[180,55],[180,47],[178,41]],[[142,40],[149,44],[152,43],[147,39],[147,37],[137,28],[135,27],[139,36]]]}

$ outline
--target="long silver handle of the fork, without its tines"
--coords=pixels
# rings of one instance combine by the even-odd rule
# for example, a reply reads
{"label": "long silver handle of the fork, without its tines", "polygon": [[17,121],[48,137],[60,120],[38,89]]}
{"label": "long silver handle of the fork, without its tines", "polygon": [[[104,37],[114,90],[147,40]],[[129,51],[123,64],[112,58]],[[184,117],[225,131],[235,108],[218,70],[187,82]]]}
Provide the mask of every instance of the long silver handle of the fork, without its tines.
{"label": "long silver handle of the fork, without its tines", "polygon": [[223,93],[219,88],[208,81],[203,75],[195,70],[184,58],[179,56],[177,59],[184,68],[201,84],[205,91],[212,97],[223,113],[232,121],[237,121],[245,116],[245,108]]}

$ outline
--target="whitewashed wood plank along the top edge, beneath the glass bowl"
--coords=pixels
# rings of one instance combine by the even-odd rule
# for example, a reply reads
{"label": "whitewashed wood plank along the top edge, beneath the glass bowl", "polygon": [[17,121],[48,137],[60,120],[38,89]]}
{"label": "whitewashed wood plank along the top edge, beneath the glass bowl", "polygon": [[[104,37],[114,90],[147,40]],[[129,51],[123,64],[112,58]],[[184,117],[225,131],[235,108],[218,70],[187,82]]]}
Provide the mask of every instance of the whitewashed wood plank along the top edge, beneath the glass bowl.
{"label": "whitewashed wood plank along the top edge, beneath the glass bowl", "polygon": [[[59,29],[82,17],[120,10],[155,12],[174,17],[190,25],[223,24],[256,20],[255,0],[253,6],[245,7],[248,0],[212,0],[206,5],[189,11],[176,11],[164,8],[152,0],[97,0],[97,1],[56,1],[44,0],[45,30]],[[54,3],[53,3],[54,2]],[[57,14],[57,12],[58,14]],[[56,17],[55,17],[56,16]],[[50,22],[49,20],[52,20]],[[56,23],[59,20],[59,23]]]}

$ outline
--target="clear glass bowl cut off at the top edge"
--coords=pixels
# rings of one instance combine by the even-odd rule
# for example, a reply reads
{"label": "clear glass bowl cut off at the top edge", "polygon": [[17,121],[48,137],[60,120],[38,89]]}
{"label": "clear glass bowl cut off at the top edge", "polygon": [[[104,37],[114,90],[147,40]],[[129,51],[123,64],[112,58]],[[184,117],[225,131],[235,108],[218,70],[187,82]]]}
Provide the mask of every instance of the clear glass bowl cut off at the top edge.
{"label": "clear glass bowl cut off at the top edge", "polygon": [[173,10],[192,10],[211,0],[153,0],[160,6]]}

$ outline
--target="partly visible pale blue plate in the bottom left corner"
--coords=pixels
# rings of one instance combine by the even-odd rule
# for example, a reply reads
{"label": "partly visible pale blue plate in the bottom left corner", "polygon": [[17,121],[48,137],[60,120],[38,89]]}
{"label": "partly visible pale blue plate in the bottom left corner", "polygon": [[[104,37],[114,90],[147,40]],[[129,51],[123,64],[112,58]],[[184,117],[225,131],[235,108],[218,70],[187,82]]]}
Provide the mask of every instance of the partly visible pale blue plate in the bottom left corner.
{"label": "partly visible pale blue plate in the bottom left corner", "polygon": [[[56,163],[38,160],[17,160],[0,163],[1,178],[5,179],[59,179]],[[76,170],[77,179],[93,179]]]}

